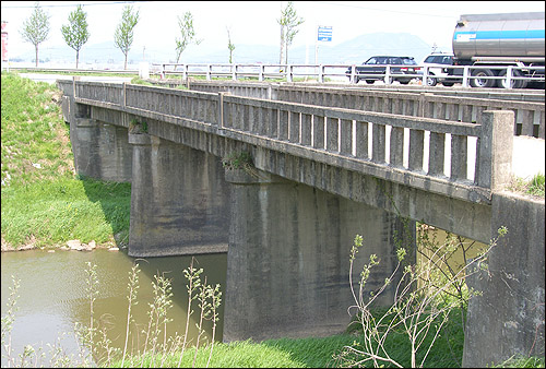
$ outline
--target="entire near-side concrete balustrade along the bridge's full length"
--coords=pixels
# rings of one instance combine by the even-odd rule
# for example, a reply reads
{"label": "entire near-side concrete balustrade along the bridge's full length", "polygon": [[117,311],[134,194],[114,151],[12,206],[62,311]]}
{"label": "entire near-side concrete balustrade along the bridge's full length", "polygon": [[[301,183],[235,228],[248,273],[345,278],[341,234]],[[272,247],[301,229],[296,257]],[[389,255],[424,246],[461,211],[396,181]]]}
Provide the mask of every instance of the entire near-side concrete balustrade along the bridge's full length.
{"label": "entire near-side concrete balustrade along the bridge's full length", "polygon": [[[466,200],[471,200],[470,193],[478,193],[477,201],[488,201],[491,183],[498,182],[491,179],[496,172],[490,169],[491,157],[496,156],[491,151],[499,150],[490,144],[496,132],[484,130],[484,124],[228,93],[78,81],[74,84],[80,104],[158,121],[191,120],[192,127],[209,126],[203,128],[207,132],[232,132],[232,138],[244,142]],[[497,114],[510,114],[513,120],[512,112],[487,111],[486,127],[491,127]],[[506,122],[510,123],[510,119]]]}

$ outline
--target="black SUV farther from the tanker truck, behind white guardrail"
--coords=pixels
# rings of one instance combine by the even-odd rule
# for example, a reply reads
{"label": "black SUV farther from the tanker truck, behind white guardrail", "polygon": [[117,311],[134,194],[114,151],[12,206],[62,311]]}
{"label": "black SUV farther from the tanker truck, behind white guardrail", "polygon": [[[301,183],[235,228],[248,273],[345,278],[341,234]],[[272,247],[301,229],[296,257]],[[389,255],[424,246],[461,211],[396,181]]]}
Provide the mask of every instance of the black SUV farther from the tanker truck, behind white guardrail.
{"label": "black SUV farther from the tanker truck, behind white guardrail", "polygon": [[[420,78],[420,67],[417,66],[414,58],[411,57],[371,57],[361,66],[355,67],[355,83],[365,80],[367,83],[384,80],[387,66],[392,66],[390,71],[390,81],[399,81],[402,84],[408,84],[413,79]],[[351,80],[352,67],[347,69]],[[385,81],[387,82],[387,81]]]}

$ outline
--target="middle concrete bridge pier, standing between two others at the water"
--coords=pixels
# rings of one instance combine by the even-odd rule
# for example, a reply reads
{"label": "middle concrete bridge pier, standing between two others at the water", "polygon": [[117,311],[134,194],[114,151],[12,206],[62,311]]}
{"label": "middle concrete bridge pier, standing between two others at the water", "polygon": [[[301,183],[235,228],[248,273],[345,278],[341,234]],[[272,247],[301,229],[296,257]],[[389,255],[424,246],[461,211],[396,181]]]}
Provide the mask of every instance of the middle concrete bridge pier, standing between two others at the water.
{"label": "middle concrete bridge pier, standing between two others at the water", "polygon": [[226,252],[229,190],[221,160],[146,133],[131,133],[129,142],[129,255]]}

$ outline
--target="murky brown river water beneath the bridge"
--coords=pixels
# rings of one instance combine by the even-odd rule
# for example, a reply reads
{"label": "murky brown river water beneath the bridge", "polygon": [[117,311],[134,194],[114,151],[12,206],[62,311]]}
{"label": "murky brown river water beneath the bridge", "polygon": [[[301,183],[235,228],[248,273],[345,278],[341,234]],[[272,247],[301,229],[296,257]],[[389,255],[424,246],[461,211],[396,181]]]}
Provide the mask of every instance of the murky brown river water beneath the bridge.
{"label": "murky brown river water beneath the bridge", "polygon": [[[48,352],[48,344],[55,344],[58,337],[67,353],[78,353],[78,343],[74,323],[90,324],[90,300],[86,296],[87,262],[97,265],[98,296],[94,302],[95,326],[100,321],[108,328],[108,338],[112,345],[123,348],[128,312],[128,283],[133,262],[139,264],[138,301],[133,307],[133,317],[139,331],[147,328],[150,310],[153,302],[152,282],[154,275],[162,273],[171,278],[173,308],[167,318],[173,319],[168,324],[167,334],[183,334],[188,307],[187,279],[182,270],[190,265],[192,257],[165,257],[134,259],[126,251],[63,251],[48,252],[28,250],[17,252],[2,252],[1,254],[1,290],[2,317],[7,313],[7,303],[10,297],[10,287],[13,286],[12,275],[19,278],[20,298],[16,301],[19,310],[12,329],[12,347],[15,355],[22,353],[25,345],[35,349],[41,347]],[[221,284],[222,300],[225,297],[225,281],[227,254],[197,255],[194,266],[203,269],[201,281],[214,285]],[[219,310],[219,322],[215,337],[222,341],[223,306]],[[193,312],[190,319],[189,338],[195,341],[199,321],[199,308],[193,302]],[[205,325],[206,336],[211,337],[212,324]],[[132,330],[136,331],[133,326]],[[139,347],[136,335],[129,342],[129,348],[136,353]],[[215,340],[216,340],[215,338]],[[142,340],[143,341],[143,340]],[[2,354],[5,354],[2,350]],[[2,367],[5,367],[2,357]]]}

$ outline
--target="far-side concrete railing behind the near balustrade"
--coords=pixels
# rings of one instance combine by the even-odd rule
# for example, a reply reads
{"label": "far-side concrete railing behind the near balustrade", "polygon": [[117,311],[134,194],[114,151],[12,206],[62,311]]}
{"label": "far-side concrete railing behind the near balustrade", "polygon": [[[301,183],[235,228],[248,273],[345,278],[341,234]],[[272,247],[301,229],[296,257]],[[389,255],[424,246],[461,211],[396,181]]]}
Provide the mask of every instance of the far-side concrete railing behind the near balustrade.
{"label": "far-side concrete railing behind the near balustrade", "polygon": [[321,86],[271,85],[192,81],[190,88],[206,92],[230,92],[237,96],[271,98],[282,102],[435,118],[479,123],[485,110],[512,110],[514,135],[545,139],[545,105],[538,102],[505,100],[439,95],[432,93],[393,92],[368,88],[332,88]]}

